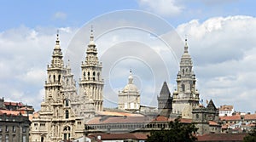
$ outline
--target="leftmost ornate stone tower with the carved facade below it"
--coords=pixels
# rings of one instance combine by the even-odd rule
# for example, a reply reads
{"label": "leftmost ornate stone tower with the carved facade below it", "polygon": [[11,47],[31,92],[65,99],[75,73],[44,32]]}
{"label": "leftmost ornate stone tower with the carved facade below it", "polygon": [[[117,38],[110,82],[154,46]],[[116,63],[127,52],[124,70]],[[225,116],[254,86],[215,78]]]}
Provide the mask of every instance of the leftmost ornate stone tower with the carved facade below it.
{"label": "leftmost ornate stone tower with the carved facade below it", "polygon": [[38,116],[32,118],[31,141],[58,142],[83,135],[83,125],[75,118],[69,99],[76,92],[75,83],[62,57],[57,34],[51,64],[47,66],[44,100]]}

